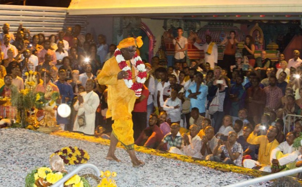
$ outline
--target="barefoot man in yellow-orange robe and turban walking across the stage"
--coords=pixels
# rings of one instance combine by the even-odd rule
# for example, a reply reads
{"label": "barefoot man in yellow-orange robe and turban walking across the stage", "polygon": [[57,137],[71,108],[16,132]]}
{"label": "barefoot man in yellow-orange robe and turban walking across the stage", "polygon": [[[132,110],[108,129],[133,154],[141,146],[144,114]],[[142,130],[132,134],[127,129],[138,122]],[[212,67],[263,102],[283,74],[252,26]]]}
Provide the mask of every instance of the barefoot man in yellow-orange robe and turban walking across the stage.
{"label": "barefoot man in yellow-orange robe and turban walking across the stage", "polygon": [[[138,64],[138,61],[136,63],[132,63],[132,61],[135,56],[136,47],[141,46],[141,37],[126,38],[122,40],[117,46],[118,49],[116,50],[114,57],[106,61],[101,73],[98,75],[99,84],[108,85],[108,110],[106,118],[112,117],[112,120],[114,120],[114,123],[112,124],[109,151],[106,159],[120,162],[114,154],[115,147],[119,141],[129,153],[133,167],[144,165],[144,162],[138,160],[135,155],[131,115],[137,91],[139,91],[139,89],[141,91],[141,86],[139,87],[139,85],[134,82],[135,80],[139,81],[137,78],[138,76],[135,76],[135,66]],[[121,67],[123,66],[122,63],[126,66]],[[143,63],[142,65],[139,64],[139,70],[146,71]],[[128,77],[129,72],[132,72],[132,77]],[[134,82],[133,85],[137,85],[136,88],[134,88],[134,86],[130,89],[127,87],[129,86],[128,83],[131,82],[131,79]],[[135,92],[133,89],[135,89]],[[138,95],[140,95],[140,93]]]}

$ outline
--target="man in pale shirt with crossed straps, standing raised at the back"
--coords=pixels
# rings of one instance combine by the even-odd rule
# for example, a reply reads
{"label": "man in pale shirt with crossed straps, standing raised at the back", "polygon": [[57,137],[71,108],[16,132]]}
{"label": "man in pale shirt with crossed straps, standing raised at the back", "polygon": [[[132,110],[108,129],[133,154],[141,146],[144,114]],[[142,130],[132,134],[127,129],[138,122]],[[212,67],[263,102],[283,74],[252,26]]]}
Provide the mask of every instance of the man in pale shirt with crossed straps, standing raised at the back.
{"label": "man in pale shirt with crossed straps, standing raised at the back", "polygon": [[181,27],[177,28],[178,37],[173,39],[173,44],[175,46],[175,62],[185,62],[186,51],[188,50],[188,39],[183,37],[184,31]]}

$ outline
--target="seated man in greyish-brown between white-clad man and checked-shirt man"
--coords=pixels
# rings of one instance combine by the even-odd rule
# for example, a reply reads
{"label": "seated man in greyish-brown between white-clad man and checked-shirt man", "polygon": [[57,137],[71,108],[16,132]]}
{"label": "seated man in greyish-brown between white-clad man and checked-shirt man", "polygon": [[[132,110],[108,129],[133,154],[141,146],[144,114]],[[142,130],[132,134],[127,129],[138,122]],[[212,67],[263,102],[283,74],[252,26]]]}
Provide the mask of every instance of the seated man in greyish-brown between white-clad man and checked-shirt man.
{"label": "seated man in greyish-brown between white-clad man and checked-shirt man", "polygon": [[218,143],[218,139],[214,136],[214,128],[208,126],[204,130],[205,135],[201,137],[201,150],[202,159],[205,159],[207,155],[212,154],[214,148]]}

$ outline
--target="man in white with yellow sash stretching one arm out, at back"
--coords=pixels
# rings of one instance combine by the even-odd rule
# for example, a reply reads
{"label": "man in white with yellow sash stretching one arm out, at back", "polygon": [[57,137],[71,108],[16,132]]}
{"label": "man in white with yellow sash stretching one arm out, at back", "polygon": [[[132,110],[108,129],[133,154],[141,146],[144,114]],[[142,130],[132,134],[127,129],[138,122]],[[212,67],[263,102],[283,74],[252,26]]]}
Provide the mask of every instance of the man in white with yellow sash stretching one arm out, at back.
{"label": "man in white with yellow sash stretching one arm out, at back", "polygon": [[[195,39],[196,40],[196,39]],[[206,43],[200,46],[196,41],[194,43],[194,46],[204,51],[204,59],[205,62],[210,63],[210,67],[214,68],[217,64],[218,60],[218,48],[217,45],[214,42],[211,42],[212,37],[210,35],[205,36]]]}

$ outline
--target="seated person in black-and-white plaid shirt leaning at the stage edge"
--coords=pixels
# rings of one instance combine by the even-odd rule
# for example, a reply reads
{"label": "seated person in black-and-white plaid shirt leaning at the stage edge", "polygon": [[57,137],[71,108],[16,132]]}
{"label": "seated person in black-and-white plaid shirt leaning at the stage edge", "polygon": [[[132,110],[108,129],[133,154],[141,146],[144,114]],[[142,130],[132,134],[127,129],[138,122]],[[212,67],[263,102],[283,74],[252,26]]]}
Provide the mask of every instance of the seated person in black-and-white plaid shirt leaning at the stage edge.
{"label": "seated person in black-and-white plaid shirt leaning at the stage edge", "polygon": [[181,134],[179,133],[179,129],[180,125],[178,123],[171,124],[171,133],[167,134],[164,137],[157,149],[161,150],[165,144],[167,144],[167,150],[170,150],[172,147],[181,149],[184,145],[184,141]]}

